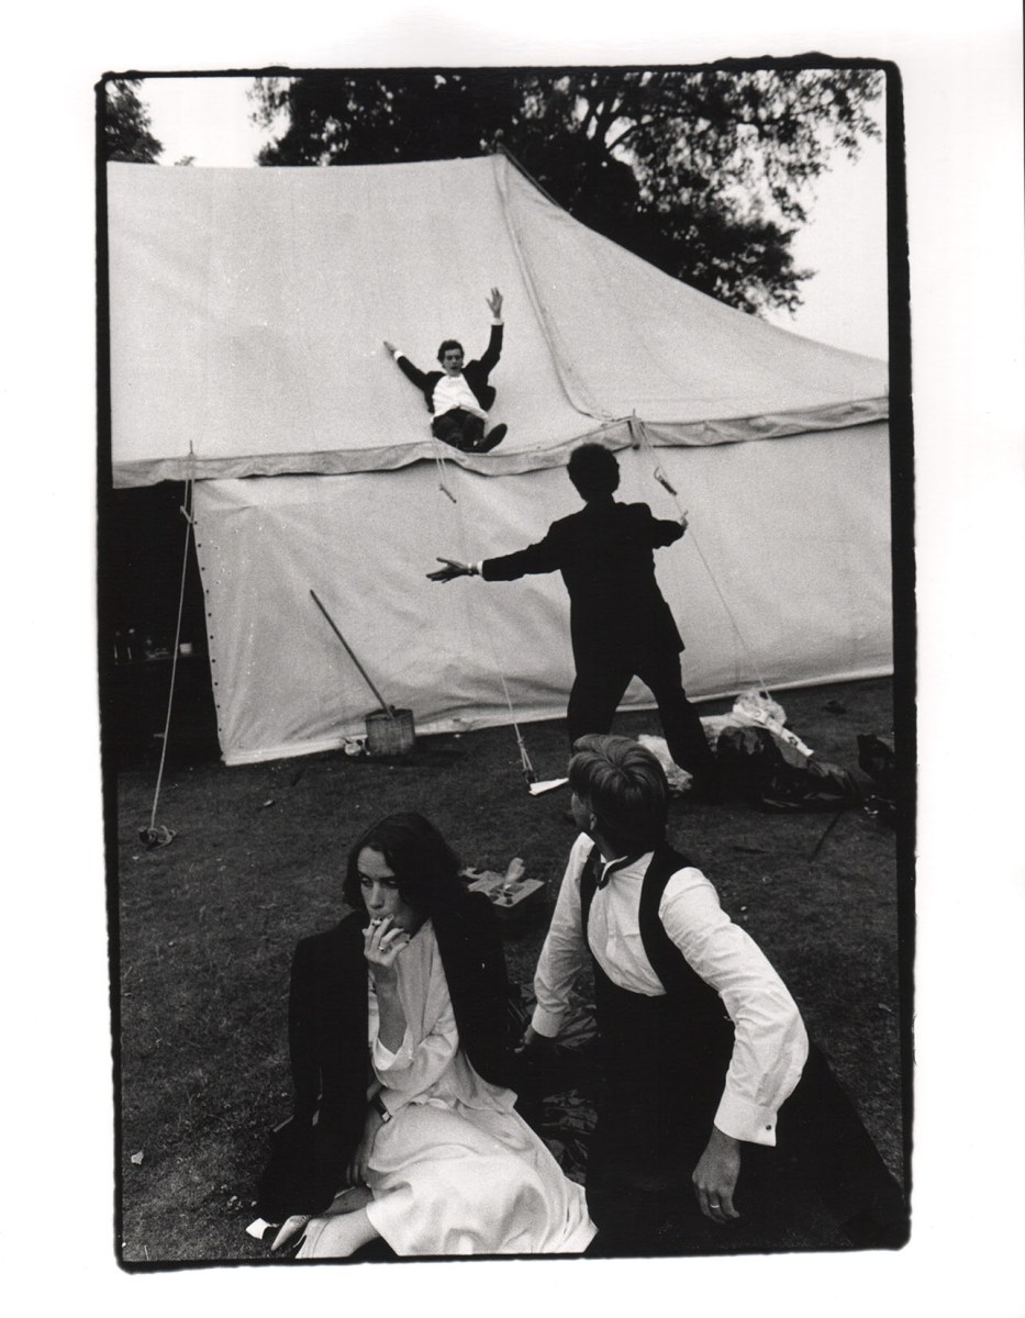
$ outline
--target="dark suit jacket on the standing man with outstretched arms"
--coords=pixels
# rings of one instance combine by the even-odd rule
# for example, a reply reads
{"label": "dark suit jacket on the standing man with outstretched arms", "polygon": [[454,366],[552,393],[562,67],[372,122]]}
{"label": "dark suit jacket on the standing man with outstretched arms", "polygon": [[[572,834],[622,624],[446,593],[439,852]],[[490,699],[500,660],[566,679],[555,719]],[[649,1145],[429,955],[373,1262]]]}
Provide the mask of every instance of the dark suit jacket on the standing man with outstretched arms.
{"label": "dark suit jacket on the standing man with outstretched arms", "polygon": [[684,648],[655,580],[653,550],[684,534],[679,522],[652,517],[647,503],[592,500],[552,522],[538,544],[485,559],[486,581],[561,572],[569,592],[569,631],[577,670],[589,663]]}

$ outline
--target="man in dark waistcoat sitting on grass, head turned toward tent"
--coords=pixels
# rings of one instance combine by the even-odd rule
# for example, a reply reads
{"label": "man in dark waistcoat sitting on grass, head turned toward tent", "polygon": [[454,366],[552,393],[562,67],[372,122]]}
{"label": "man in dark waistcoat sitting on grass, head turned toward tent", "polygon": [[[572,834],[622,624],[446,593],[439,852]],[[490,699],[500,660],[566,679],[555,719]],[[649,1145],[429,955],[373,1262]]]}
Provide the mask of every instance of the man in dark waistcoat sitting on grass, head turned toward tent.
{"label": "man in dark waistcoat sitting on grass, head turned toward tent", "polygon": [[793,1094],[784,1143],[847,1239],[902,1243],[900,1189],[822,1054],[809,1054],[793,998],[711,883],[667,844],[657,759],[626,737],[589,734],[574,743],[569,786],[581,833],[538,962],[524,1044],[559,1035],[590,961],[606,1070],[588,1157],[594,1220],[615,1231],[632,1214],[636,1228],[644,1206],[688,1182],[705,1218],[738,1218],[742,1162],[763,1165]]}

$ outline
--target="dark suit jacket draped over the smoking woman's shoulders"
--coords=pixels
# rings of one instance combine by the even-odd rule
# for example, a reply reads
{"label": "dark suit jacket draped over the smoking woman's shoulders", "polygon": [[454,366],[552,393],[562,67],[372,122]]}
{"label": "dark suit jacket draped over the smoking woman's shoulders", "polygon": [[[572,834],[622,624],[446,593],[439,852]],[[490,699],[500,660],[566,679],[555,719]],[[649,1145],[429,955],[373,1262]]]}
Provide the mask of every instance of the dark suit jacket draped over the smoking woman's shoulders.
{"label": "dark suit jacket draped over the smoking woman's shoulders", "polygon": [[[260,1184],[267,1222],[319,1213],[341,1185],[366,1119],[368,985],[365,912],[295,949],[289,990],[289,1057],[295,1101]],[[511,1085],[509,979],[491,903],[464,894],[433,919],[460,1045],[474,1069]]]}

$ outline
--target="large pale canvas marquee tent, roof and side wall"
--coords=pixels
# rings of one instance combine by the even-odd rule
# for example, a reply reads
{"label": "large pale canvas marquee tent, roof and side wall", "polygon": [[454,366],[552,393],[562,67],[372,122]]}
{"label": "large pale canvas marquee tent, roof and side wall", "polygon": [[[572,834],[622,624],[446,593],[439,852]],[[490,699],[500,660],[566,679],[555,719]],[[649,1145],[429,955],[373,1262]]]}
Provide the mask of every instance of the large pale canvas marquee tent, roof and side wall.
{"label": "large pale canvas marquee tent, roof and side wall", "polygon": [[[316,590],[419,731],[564,713],[557,577],[426,580],[580,506],[690,518],[659,552],[692,696],[892,670],[887,365],[723,307],[598,236],[503,156],[331,169],[108,166],[119,486],[192,480],[228,763],[325,750],[375,704]],[[490,455],[432,440],[382,340],[506,345]],[[676,490],[672,497],[656,469]],[[644,704],[643,687],[627,702]]]}

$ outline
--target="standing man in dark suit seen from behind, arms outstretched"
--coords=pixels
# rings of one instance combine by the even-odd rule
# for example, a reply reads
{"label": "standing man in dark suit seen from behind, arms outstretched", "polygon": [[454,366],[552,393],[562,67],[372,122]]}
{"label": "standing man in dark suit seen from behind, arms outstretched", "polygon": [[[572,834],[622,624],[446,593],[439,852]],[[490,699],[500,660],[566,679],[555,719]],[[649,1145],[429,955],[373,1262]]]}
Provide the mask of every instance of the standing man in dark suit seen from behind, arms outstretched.
{"label": "standing man in dark suit seen from behind, arms outstretched", "polygon": [[570,742],[585,733],[607,733],[636,676],[655,696],[669,754],[693,775],[692,799],[714,799],[715,760],[680,681],[684,642],[655,580],[652,551],[681,539],[686,518],[661,521],[647,503],[617,502],[619,464],[601,444],[573,449],[567,471],[585,506],[553,522],[538,544],[473,567],[439,559],[445,567],[428,577],[514,581],[534,572],[561,572],[577,670],[567,709]]}

